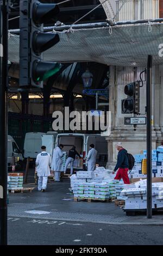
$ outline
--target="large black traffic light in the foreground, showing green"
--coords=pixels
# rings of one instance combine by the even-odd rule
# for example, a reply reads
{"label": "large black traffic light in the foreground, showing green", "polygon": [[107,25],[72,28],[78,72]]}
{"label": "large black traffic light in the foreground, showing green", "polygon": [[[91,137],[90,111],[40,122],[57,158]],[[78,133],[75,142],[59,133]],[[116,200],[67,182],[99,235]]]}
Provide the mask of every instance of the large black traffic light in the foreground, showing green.
{"label": "large black traffic light in the foreground, showing green", "polygon": [[56,33],[43,32],[43,23],[54,22],[58,13],[57,4],[20,1],[20,86],[42,88],[61,69],[59,63],[43,62],[42,54],[60,40]]}

